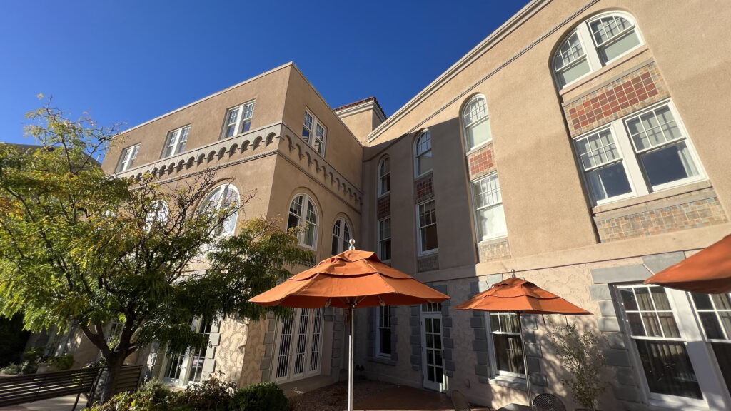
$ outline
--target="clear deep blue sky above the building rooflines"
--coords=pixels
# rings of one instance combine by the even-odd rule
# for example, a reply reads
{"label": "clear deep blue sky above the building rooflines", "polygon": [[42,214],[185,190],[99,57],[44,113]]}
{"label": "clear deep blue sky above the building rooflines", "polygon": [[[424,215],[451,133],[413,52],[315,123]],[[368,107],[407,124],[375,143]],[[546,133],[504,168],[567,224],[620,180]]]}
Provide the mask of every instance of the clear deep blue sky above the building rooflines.
{"label": "clear deep blue sky above the building rooflines", "polygon": [[6,1],[0,141],[37,94],[132,127],[287,61],[331,107],[376,96],[390,116],[527,0]]}

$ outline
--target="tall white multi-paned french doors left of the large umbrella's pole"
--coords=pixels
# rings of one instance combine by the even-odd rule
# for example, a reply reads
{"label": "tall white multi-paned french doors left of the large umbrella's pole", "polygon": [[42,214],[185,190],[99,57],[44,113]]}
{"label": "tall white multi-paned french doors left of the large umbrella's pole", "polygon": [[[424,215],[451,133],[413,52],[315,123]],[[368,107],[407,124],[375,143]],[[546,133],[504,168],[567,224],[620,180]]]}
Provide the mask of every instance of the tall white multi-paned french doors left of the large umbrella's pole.
{"label": "tall white multi-paned french doors left of the large umbrella's pole", "polygon": [[319,375],[324,309],[294,309],[277,325],[273,379],[277,382]]}

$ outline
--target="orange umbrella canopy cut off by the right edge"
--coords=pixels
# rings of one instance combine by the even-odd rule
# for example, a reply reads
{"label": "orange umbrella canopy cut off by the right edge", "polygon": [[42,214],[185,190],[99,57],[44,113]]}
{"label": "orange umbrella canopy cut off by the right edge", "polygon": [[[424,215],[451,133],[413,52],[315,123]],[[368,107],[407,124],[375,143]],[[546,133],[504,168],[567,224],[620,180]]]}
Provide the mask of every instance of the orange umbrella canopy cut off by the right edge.
{"label": "orange umbrella canopy cut off by the right edge", "polygon": [[645,280],[694,293],[731,293],[731,235]]}

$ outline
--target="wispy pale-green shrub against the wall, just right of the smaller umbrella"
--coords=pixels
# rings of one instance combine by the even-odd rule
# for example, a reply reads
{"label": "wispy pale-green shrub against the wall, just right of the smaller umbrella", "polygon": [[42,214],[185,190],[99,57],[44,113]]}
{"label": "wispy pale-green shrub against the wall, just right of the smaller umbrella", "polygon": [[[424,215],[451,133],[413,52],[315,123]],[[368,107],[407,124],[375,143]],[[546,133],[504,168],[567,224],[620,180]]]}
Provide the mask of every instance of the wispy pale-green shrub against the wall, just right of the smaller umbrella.
{"label": "wispy pale-green shrub against the wall, just right of the smaller umbrella", "polygon": [[551,347],[558,355],[561,365],[572,374],[572,378],[561,382],[568,385],[574,401],[588,410],[596,410],[599,396],[607,389],[601,372],[606,359],[599,346],[599,339],[592,331],[580,334],[575,324],[551,325],[548,336]]}

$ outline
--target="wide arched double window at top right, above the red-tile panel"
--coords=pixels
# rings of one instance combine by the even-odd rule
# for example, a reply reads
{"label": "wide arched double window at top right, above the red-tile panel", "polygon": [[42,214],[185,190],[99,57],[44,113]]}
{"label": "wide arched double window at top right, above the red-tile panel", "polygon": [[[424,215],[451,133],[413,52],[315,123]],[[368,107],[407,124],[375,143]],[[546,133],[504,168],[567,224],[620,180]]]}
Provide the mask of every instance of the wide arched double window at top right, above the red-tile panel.
{"label": "wide arched double window at top right, above the red-tile panel", "polygon": [[561,42],[553,56],[558,88],[583,78],[643,44],[635,19],[610,12],[584,21]]}

